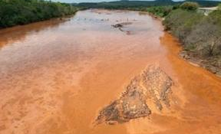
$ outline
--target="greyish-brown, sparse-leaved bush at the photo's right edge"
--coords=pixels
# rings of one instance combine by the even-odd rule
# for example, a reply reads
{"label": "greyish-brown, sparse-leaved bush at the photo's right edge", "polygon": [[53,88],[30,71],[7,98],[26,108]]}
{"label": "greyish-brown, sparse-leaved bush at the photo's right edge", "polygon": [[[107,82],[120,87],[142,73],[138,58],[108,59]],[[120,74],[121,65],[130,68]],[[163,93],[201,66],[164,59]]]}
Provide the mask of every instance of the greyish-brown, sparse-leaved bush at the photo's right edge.
{"label": "greyish-brown, sparse-leaved bush at the photo's right edge", "polygon": [[221,54],[221,27],[207,20],[199,23],[186,39],[186,48],[198,56],[215,56]]}

